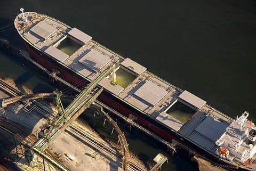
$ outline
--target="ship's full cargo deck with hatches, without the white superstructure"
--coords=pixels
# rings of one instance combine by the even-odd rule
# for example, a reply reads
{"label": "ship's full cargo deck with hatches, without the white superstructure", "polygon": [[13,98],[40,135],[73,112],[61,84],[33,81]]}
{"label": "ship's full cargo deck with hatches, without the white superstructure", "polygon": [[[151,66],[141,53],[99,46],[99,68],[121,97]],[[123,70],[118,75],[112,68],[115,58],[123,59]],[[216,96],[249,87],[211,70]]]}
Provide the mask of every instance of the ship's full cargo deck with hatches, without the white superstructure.
{"label": "ship's full cargo deck with hatches, without the white superstructure", "polygon": [[[26,22],[24,18],[28,21]],[[31,46],[87,80],[96,79],[109,66],[119,61],[120,65],[116,71],[122,69],[124,75],[132,75],[134,79],[131,77],[125,86],[118,85],[110,79],[113,77],[112,73],[103,78],[99,86],[211,153],[215,153],[217,148],[215,141],[233,121],[224,113],[205,104],[206,102],[199,97],[183,92],[137,62],[125,59],[95,42],[91,36],[61,21],[47,15],[27,12],[24,17],[19,14],[14,24],[19,34]],[[67,54],[59,48],[61,42],[67,38],[70,39],[68,41],[79,45],[72,54]],[[182,93],[185,96],[181,95]],[[186,105],[182,108],[188,107],[189,112],[195,113],[191,113],[185,120],[170,115],[182,105]]]}

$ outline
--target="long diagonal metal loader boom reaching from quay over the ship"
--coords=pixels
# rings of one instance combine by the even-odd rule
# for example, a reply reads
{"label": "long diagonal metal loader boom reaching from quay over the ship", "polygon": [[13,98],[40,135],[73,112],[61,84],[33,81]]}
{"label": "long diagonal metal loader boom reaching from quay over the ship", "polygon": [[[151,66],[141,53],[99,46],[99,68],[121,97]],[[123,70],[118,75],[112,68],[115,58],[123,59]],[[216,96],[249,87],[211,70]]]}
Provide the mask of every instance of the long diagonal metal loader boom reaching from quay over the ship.
{"label": "long diagonal metal loader boom reaching from quay over the ship", "polygon": [[50,120],[39,133],[39,139],[35,145],[44,150],[60,133],[62,133],[85,109],[89,108],[92,102],[103,91],[96,87],[100,80],[110,74],[116,68],[116,63],[106,69],[102,74],[93,80],[83,91],[77,95],[76,99],[68,107]]}

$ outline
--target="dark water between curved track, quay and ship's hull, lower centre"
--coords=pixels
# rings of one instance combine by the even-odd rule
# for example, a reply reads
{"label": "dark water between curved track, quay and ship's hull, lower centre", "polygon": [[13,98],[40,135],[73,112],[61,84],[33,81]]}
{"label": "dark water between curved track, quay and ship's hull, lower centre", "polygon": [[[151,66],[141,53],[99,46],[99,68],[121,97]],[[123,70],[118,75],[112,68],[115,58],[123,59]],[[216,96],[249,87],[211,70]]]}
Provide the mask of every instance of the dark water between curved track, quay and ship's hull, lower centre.
{"label": "dark water between curved track, quay and ship's hull, lower centre", "polygon": [[[100,115],[95,115],[94,112],[87,110],[86,115],[83,115],[79,118],[81,121],[85,121],[88,123],[97,133],[102,135],[104,139],[108,139],[113,142],[117,142],[117,134],[114,132],[111,135],[112,126],[107,123],[103,126],[103,118]],[[168,157],[168,164],[165,163],[162,167],[162,171],[167,170],[188,170],[188,171],[198,171],[197,164],[195,162],[191,162],[189,159],[185,157],[180,157],[172,155],[166,152],[166,148],[164,145],[159,144],[158,142],[152,140],[150,137],[143,136],[134,128],[129,128],[124,123],[118,123],[119,127],[125,134],[127,143],[129,144],[129,150],[137,156],[140,160],[142,160],[146,167],[153,166],[153,159],[157,153],[161,152]]]}

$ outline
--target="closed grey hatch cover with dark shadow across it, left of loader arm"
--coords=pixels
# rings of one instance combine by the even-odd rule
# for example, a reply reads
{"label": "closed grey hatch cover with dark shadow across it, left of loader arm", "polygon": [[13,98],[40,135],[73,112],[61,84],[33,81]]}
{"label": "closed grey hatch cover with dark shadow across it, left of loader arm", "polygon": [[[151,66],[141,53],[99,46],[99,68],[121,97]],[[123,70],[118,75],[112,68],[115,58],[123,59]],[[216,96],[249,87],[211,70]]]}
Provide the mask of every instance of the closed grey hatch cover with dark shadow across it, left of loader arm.
{"label": "closed grey hatch cover with dark shadow across it, left of loader arm", "polygon": [[79,59],[80,63],[95,72],[98,72],[109,61],[111,61],[111,59],[108,55],[104,55],[96,50],[91,50]]}

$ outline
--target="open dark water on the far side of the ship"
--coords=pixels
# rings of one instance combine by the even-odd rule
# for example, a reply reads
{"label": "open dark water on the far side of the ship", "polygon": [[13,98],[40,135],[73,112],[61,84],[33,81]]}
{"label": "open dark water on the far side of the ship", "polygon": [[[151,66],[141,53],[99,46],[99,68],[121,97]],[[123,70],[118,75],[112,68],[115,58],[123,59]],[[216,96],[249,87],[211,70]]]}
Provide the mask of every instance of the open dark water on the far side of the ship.
{"label": "open dark water on the far side of the ship", "polygon": [[[256,120],[254,0],[0,0],[0,27],[12,22],[21,6],[85,31],[229,116],[247,110]],[[0,36],[21,43],[14,29],[0,30]],[[29,71],[21,68],[21,72],[6,55],[0,53],[0,57],[1,76],[20,78],[20,83],[37,87],[38,91],[49,90]],[[137,147],[151,151],[143,143]],[[173,161],[169,170],[186,170],[180,165]],[[183,165],[191,170],[191,165]]]}

